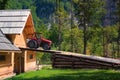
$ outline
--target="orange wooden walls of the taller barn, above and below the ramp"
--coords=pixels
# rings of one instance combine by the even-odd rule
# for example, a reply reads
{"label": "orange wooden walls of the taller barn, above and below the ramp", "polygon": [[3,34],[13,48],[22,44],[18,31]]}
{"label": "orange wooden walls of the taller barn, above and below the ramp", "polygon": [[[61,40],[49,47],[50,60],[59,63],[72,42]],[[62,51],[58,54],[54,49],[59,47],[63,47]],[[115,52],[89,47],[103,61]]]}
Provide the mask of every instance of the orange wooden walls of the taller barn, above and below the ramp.
{"label": "orange wooden walls of the taller barn, above and below the ramp", "polygon": [[[7,38],[17,47],[27,47],[27,39],[34,33],[34,25],[31,14],[29,15],[23,32],[21,34],[8,34]],[[34,51],[23,51],[24,53],[24,71],[28,71],[36,68],[36,59]],[[33,55],[33,59],[29,59],[29,55]]]}

